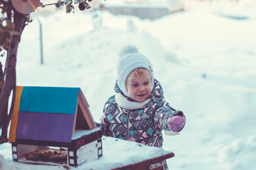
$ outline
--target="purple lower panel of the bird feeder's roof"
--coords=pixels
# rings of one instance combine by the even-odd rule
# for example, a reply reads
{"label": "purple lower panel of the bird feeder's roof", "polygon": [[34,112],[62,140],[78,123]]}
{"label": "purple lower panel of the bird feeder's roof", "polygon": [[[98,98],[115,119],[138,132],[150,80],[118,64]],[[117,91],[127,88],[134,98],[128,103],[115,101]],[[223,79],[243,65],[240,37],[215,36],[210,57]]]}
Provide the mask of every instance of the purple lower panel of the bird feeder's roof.
{"label": "purple lower panel of the bird feeder's roof", "polygon": [[74,114],[19,112],[16,139],[71,142]]}

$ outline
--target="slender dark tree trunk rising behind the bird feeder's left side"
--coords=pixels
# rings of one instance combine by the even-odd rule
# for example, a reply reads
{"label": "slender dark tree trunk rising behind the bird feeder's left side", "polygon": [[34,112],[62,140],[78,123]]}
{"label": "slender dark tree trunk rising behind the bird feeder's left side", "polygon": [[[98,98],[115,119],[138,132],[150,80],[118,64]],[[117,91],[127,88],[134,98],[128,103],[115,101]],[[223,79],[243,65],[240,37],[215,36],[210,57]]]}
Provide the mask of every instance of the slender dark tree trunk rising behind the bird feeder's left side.
{"label": "slender dark tree trunk rising behind the bird feeder's left side", "polygon": [[[5,68],[5,81],[0,94],[0,129],[2,134],[0,136],[0,144],[8,142],[7,132],[9,122],[11,120],[12,112],[14,109],[15,96],[16,96],[16,61],[18,45],[21,41],[21,34],[25,27],[27,16],[14,10],[14,24],[15,31],[19,35],[12,37],[12,42],[9,46],[7,57],[6,57],[6,68]],[[12,102],[11,108],[9,109],[8,115],[8,101],[12,91]]]}

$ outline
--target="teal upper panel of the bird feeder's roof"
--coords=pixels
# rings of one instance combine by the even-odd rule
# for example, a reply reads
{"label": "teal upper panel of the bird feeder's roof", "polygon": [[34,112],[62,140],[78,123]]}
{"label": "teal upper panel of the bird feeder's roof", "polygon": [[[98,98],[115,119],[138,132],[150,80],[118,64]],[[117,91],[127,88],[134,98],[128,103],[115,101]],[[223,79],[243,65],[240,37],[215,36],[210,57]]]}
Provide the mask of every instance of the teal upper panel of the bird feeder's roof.
{"label": "teal upper panel of the bird feeder's roof", "polygon": [[19,111],[76,114],[79,89],[24,86]]}

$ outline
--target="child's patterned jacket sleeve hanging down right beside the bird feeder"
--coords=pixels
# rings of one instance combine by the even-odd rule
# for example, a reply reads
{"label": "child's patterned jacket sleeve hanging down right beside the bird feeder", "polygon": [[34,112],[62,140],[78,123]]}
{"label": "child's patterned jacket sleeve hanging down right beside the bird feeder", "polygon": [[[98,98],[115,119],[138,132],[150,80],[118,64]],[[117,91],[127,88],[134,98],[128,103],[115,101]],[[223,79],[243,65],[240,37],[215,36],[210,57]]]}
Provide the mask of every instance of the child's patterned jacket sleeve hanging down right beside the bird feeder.
{"label": "child's patterned jacket sleeve hanging down right beside the bird feeder", "polygon": [[105,136],[113,137],[113,134],[110,131],[110,122],[108,119],[109,112],[107,111],[107,103],[103,108],[103,115],[100,118],[100,128],[102,129],[102,134]]}

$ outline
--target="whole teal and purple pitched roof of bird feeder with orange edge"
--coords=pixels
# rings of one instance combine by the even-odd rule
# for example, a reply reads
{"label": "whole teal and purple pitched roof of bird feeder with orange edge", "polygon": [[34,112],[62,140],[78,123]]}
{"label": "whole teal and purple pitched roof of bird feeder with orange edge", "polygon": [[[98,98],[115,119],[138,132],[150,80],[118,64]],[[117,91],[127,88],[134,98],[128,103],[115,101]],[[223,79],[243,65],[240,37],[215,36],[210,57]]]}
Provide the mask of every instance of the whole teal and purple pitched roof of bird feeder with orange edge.
{"label": "whole teal and purple pitched roof of bird feeder with orange edge", "polygon": [[79,101],[81,108],[88,107],[80,88],[17,86],[9,142],[71,142]]}

